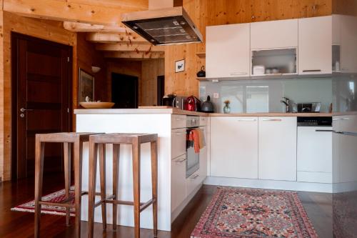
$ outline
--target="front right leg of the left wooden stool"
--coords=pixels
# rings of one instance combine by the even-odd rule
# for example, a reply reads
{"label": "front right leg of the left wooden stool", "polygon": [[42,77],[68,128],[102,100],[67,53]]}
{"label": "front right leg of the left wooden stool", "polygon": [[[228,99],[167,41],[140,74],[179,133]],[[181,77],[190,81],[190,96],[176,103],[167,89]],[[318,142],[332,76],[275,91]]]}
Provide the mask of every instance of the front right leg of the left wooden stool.
{"label": "front right leg of the left wooden stool", "polygon": [[76,237],[81,237],[81,192],[82,192],[82,152],[83,142],[74,142],[74,207],[76,212]]}

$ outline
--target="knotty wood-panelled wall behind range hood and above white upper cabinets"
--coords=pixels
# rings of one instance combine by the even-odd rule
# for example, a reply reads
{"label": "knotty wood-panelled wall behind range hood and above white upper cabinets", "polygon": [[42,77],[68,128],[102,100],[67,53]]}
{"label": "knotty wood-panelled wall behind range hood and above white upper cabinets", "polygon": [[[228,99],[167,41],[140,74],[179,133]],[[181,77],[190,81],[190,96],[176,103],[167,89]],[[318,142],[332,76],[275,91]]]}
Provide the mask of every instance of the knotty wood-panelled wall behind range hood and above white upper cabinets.
{"label": "knotty wood-panelled wall behind range hood and above white upper cabinets", "polygon": [[[183,0],[183,7],[206,39],[206,26],[331,15],[332,0]],[[166,94],[198,96],[196,72],[205,60],[199,59],[196,52],[204,51],[204,42],[166,46]],[[186,70],[175,74],[174,64],[180,59],[186,59]]]}

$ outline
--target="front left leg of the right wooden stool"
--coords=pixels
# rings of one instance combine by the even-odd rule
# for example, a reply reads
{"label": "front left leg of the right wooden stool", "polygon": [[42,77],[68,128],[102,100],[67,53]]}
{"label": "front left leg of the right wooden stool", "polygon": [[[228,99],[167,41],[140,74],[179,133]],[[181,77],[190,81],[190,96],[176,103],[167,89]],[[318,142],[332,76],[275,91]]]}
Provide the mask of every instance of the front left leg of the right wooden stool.
{"label": "front left leg of the right wooden stool", "polygon": [[98,145],[89,139],[89,188],[88,188],[88,237],[94,233],[94,209],[96,199],[96,162]]}

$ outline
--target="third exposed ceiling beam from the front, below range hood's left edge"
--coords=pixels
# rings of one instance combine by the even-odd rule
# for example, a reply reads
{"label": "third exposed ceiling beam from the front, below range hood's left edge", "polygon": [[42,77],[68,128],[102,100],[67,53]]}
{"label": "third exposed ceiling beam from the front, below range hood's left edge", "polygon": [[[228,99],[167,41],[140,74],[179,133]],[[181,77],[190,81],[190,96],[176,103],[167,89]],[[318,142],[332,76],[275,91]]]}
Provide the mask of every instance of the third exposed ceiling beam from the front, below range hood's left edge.
{"label": "third exposed ceiling beam from the front, below range hood's left edge", "polygon": [[99,51],[146,51],[164,52],[164,46],[154,46],[152,44],[96,44]]}

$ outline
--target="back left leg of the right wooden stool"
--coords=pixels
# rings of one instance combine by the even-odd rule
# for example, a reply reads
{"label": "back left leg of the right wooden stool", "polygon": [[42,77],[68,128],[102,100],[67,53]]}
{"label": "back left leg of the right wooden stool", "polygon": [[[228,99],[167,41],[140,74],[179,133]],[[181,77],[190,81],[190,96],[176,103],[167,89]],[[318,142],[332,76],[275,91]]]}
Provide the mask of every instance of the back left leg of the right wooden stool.
{"label": "back left leg of the right wooden stool", "polygon": [[99,174],[101,177],[101,219],[106,229],[106,144],[99,144]]}

